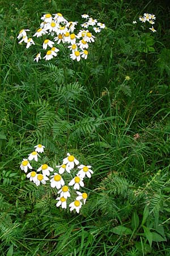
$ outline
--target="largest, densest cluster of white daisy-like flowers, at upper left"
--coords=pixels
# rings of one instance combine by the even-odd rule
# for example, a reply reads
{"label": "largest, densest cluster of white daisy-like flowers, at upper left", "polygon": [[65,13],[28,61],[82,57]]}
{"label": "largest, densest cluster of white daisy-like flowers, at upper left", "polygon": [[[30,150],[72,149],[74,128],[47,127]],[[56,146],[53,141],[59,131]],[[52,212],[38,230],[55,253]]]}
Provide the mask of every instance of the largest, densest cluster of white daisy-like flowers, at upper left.
{"label": "largest, densest cluster of white daisy-like flowers, at upper left", "polygon": [[[90,30],[99,33],[102,28],[105,28],[105,24],[97,22],[96,19],[90,18],[87,14],[83,14],[82,18],[86,19],[86,22],[80,24],[82,29],[75,33],[78,22],[68,22],[61,13],[53,14],[53,16],[51,14],[44,14],[41,17],[40,27],[33,36],[37,38],[42,36],[44,40],[42,49],[47,49],[48,51],[46,51],[43,59],[50,60],[56,57],[59,51],[56,46],[60,43],[65,44],[69,48],[71,59],[77,61],[80,61],[81,58],[87,59],[89,44],[95,42],[95,36],[92,35]],[[26,48],[29,48],[35,42],[32,38],[28,38],[27,31],[30,30],[22,29],[17,38],[19,44],[24,42],[27,44]],[[40,59],[41,52],[37,53],[34,61],[38,62]]]}

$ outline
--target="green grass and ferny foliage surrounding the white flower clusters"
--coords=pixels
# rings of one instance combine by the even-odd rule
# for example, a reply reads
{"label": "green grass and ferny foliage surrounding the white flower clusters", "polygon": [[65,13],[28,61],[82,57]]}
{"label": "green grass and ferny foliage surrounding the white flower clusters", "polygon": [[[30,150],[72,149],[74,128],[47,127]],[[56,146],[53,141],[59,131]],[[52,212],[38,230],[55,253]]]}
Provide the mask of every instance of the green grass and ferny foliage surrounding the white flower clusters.
{"label": "green grass and ferny foliage surrounding the white flower clusters", "polygon": [[[0,6],[0,254],[168,256],[167,6],[144,0]],[[58,12],[72,21],[88,13],[107,26],[87,60],[73,61],[58,46],[57,58],[36,63],[40,46],[18,44],[22,28],[33,34],[42,14]],[[146,12],[156,15],[155,33],[138,22]],[[53,168],[67,152],[92,166],[80,214],[57,208],[57,191],[49,183],[36,187],[20,170],[38,143]]]}

